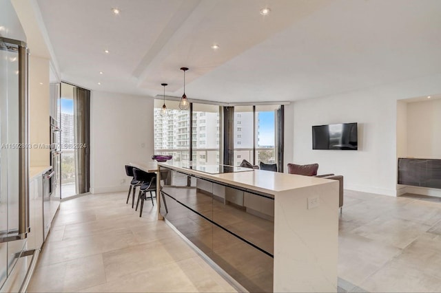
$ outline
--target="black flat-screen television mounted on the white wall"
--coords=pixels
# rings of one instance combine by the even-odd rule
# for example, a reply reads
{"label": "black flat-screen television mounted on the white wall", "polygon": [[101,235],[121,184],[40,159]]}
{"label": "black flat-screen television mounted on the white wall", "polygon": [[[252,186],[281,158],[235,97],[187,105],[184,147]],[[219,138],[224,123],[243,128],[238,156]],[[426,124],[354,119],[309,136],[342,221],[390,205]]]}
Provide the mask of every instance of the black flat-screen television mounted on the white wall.
{"label": "black flat-screen television mounted on the white wall", "polygon": [[358,149],[357,123],[318,125],[312,127],[312,149]]}

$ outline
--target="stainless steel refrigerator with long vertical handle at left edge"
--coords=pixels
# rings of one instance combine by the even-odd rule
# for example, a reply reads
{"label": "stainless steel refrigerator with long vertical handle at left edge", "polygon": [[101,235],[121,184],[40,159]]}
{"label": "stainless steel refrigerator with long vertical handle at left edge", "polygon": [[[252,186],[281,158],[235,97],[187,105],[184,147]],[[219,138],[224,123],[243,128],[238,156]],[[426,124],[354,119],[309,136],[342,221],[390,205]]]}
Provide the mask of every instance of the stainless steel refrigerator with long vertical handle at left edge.
{"label": "stainless steel refrigerator with long vertical handle at left edge", "polygon": [[[0,1],[0,292],[23,290],[28,250],[28,48],[10,1]],[[38,257],[38,252],[37,252]],[[32,265],[31,265],[32,264]]]}

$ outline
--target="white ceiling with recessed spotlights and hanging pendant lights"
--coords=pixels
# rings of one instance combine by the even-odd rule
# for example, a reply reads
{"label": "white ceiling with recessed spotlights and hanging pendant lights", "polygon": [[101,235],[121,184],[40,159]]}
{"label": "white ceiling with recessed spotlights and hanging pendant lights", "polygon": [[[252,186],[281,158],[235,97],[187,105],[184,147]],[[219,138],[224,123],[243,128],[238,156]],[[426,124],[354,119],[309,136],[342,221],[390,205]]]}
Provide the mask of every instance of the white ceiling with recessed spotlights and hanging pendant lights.
{"label": "white ceiling with recessed spotlights and hanging pendant lights", "polygon": [[190,100],[268,102],[441,72],[439,0],[37,3],[62,80],[89,89],[181,96],[185,66]]}

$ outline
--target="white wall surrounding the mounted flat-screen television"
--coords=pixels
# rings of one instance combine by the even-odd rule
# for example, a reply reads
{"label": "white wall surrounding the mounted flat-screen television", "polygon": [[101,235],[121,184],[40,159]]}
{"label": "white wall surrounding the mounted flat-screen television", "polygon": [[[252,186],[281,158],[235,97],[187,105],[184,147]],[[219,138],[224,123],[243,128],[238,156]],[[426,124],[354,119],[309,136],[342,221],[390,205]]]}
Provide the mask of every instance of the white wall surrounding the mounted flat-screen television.
{"label": "white wall surrounding the mounted flat-screen television", "polygon": [[[437,93],[441,74],[296,101],[285,113],[294,116],[293,162],[344,175],[347,189],[396,195],[397,100]],[[358,122],[358,151],[312,150],[311,126],[341,122]]]}

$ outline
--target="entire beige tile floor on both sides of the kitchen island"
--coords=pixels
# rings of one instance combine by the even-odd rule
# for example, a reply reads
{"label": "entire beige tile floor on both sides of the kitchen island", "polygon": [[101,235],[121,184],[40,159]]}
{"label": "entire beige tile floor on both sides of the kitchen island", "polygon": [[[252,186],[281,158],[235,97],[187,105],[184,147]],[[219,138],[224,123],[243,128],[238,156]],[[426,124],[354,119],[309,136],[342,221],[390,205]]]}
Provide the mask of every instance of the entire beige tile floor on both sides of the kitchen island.
{"label": "entire beige tile floor on both sides of the kitchen island", "polygon": [[[441,202],[345,191],[341,292],[440,292]],[[145,202],[125,193],[62,202],[28,292],[236,292]]]}

